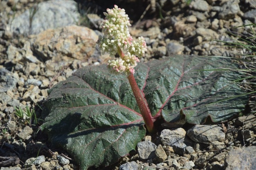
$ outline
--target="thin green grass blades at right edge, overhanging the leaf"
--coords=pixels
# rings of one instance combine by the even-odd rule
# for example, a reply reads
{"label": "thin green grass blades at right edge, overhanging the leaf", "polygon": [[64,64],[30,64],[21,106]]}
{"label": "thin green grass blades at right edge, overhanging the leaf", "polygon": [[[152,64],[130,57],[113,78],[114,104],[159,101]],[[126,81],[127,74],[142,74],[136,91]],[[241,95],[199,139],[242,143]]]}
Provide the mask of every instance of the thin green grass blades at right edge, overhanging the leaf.
{"label": "thin green grass blades at right edge, overhanging the leaf", "polygon": [[[232,62],[238,63],[237,69],[228,68],[215,68],[209,70],[195,70],[195,71],[237,71],[241,73],[241,78],[235,79],[233,82],[243,88],[246,92],[231,98],[216,101],[210,104],[219,103],[222,101],[239,98],[241,96],[248,96],[248,106],[250,113],[256,113],[256,24],[246,24],[243,26],[243,33],[227,31],[227,36],[232,41],[214,40],[223,43],[225,46],[231,49],[240,49],[241,53],[236,53],[236,57],[226,56],[207,56],[207,57],[219,57],[230,58]],[[235,28],[239,28],[235,27]],[[248,29],[249,27],[249,29]],[[234,29],[234,28],[233,28]],[[204,56],[206,57],[206,56]],[[209,104],[208,104],[209,105]]]}

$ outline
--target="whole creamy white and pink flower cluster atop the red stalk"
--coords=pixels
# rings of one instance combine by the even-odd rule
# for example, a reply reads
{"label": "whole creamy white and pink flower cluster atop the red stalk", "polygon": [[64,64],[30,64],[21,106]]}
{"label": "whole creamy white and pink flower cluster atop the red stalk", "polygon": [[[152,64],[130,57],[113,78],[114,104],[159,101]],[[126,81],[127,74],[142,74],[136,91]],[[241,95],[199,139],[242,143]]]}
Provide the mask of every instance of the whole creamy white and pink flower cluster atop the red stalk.
{"label": "whole creamy white and pink flower cluster atop the red stalk", "polygon": [[108,66],[116,72],[134,73],[138,58],[143,57],[147,51],[145,39],[139,37],[138,41],[132,40],[128,29],[131,24],[124,9],[115,5],[113,9],[107,9],[107,12],[104,12],[106,18],[102,23],[104,36],[99,36],[97,44],[103,54],[108,52],[111,56],[127,51],[127,54],[120,56],[121,59],[108,61]]}

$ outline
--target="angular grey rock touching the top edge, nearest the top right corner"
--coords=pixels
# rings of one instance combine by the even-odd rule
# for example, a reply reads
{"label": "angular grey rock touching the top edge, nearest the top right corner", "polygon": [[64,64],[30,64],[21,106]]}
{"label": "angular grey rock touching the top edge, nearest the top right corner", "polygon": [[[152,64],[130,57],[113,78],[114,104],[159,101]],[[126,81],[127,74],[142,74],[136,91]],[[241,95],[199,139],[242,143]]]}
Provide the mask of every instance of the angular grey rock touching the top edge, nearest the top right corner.
{"label": "angular grey rock touching the top edge, nearest the top right corner", "polygon": [[219,18],[223,20],[233,19],[239,12],[241,12],[239,0],[227,1],[225,4],[223,4],[221,11],[219,12]]}

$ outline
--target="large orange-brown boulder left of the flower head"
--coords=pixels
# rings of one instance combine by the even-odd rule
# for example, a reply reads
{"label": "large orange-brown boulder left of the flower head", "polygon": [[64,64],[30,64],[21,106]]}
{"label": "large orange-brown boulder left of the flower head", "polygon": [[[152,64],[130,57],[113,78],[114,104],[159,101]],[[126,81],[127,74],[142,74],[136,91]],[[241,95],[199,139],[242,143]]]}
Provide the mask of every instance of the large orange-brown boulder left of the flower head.
{"label": "large orange-brown boulder left of the flower head", "polygon": [[34,37],[31,44],[43,60],[87,60],[95,52],[97,40],[93,30],[73,25],[45,30]]}

